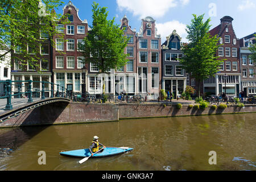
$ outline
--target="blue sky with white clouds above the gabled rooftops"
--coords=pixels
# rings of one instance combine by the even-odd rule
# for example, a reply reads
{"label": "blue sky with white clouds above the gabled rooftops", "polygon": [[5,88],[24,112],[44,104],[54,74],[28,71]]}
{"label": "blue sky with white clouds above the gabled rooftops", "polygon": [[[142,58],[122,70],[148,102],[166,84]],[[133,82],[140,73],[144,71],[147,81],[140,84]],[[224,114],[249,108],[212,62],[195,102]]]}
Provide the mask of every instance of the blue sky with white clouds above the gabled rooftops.
{"label": "blue sky with white clouds above the gabled rooftops", "polygon": [[[62,14],[64,4],[56,13]],[[185,28],[191,24],[192,14],[204,14],[204,20],[210,18],[210,29],[220,24],[223,16],[231,16],[234,31],[238,39],[256,32],[256,0],[72,0],[79,9],[79,17],[92,24],[92,3],[100,7],[108,7],[108,19],[115,17],[115,23],[121,24],[124,15],[129,19],[129,25],[139,32],[141,22],[146,16],[156,20],[158,34],[162,43],[173,30],[181,36],[181,42],[187,42]]]}

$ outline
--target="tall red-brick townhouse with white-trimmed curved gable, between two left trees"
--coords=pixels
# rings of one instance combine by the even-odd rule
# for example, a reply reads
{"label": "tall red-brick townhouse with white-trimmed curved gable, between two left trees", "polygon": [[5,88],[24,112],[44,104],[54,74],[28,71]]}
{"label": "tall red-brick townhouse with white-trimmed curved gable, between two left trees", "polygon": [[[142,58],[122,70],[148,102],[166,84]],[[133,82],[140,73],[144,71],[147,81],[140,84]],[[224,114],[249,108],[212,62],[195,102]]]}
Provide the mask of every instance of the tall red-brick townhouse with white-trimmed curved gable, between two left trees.
{"label": "tall red-brick townhouse with white-trimmed curved gable, between two left trees", "polygon": [[73,92],[81,92],[83,81],[81,68],[84,64],[82,64],[82,54],[78,49],[78,44],[82,43],[88,33],[88,22],[86,19],[80,19],[79,9],[70,1],[63,8],[63,15],[65,14],[69,14],[70,23],[65,25],[59,23],[56,27],[56,30],[64,34],[64,37],[58,34],[53,37],[56,43],[52,53],[53,81]]}

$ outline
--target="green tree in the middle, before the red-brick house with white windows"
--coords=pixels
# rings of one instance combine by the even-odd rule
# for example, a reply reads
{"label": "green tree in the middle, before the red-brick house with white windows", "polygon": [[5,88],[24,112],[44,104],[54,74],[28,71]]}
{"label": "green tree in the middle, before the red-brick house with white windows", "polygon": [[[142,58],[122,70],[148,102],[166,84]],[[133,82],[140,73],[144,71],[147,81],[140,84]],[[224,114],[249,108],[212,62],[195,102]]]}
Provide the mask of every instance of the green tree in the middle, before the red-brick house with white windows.
{"label": "green tree in the middle, before the red-brick house with white windows", "polygon": [[92,30],[84,38],[84,43],[79,44],[79,49],[84,56],[84,63],[94,63],[99,73],[109,73],[110,69],[118,69],[127,63],[125,47],[127,38],[119,25],[114,24],[114,19],[108,20],[106,7],[92,5]]}

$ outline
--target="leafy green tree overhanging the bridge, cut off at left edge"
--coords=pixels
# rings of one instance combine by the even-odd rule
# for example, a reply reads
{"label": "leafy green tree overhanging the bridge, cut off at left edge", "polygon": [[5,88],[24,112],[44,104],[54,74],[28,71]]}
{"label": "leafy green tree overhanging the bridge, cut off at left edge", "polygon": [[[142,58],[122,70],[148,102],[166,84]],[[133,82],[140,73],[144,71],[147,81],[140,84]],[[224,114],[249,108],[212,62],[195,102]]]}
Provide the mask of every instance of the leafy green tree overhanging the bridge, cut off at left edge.
{"label": "leafy green tree overhanging the bridge, cut off at left edge", "polygon": [[54,11],[61,3],[60,0],[1,0],[0,49],[7,46],[9,51],[0,54],[0,59],[15,51],[18,54],[12,57],[19,59],[20,64],[39,68],[40,44],[51,40],[54,47],[52,37],[57,34],[57,22],[60,18],[63,24],[68,22]]}

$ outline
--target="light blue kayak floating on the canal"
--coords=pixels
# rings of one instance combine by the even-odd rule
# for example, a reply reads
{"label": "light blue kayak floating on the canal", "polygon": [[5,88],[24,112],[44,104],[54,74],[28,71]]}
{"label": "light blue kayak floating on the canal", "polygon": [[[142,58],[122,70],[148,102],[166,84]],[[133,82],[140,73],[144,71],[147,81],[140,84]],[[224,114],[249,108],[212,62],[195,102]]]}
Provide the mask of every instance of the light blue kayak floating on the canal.
{"label": "light blue kayak floating on the canal", "polygon": [[[102,149],[101,151],[97,152],[96,154],[94,154],[92,156],[92,158],[100,158],[100,157],[105,157],[105,156],[110,156],[110,155],[118,155],[118,154],[123,154],[125,152],[132,151],[132,150],[133,150],[133,148],[129,148],[129,147],[106,147],[106,148]],[[85,158],[85,157],[89,157],[91,154],[90,154],[89,148],[85,148],[85,149],[80,149],[80,150],[60,152],[60,155]]]}

